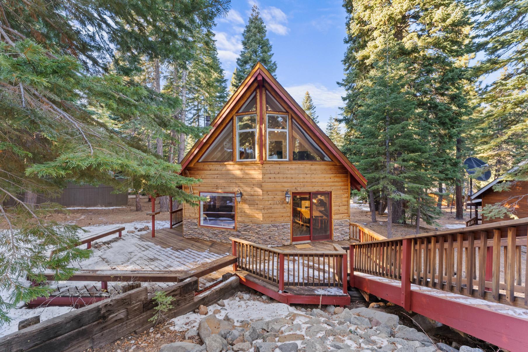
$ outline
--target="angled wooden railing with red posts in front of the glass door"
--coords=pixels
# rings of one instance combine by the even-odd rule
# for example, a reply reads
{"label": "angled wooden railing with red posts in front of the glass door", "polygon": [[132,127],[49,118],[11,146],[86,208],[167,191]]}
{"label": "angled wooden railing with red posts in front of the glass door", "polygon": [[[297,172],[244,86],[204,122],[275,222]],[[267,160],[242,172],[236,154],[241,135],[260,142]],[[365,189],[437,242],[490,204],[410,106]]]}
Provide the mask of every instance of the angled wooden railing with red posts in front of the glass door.
{"label": "angled wooden railing with red posts in front of the glass door", "polygon": [[[346,293],[346,251],[334,245],[333,251],[284,251],[231,238],[234,269],[247,271],[263,280],[284,286],[342,287]],[[343,285],[345,283],[345,285]]]}

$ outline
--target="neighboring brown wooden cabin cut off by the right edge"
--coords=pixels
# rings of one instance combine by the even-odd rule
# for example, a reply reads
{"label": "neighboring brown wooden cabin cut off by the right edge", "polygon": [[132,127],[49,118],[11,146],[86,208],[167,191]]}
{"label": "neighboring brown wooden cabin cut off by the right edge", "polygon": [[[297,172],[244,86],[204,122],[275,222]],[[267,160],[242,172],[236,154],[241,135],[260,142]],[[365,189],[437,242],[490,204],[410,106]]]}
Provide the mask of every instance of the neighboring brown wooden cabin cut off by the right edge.
{"label": "neighboring brown wooden cabin cut off by the right edge", "polygon": [[[523,162],[526,163],[526,162]],[[513,172],[517,169],[517,166],[509,171]],[[515,207],[514,209],[514,215],[518,218],[526,218],[528,217],[528,197],[523,197],[525,194],[528,194],[528,182],[516,182],[508,191],[494,191],[493,186],[497,183],[501,183],[504,179],[504,175],[501,177],[496,178],[495,180],[489,182],[484,186],[483,188],[479,189],[477,192],[475,192],[471,196],[471,201],[474,206],[476,206],[476,212],[478,207],[482,207],[480,209],[483,209],[486,205],[494,205],[495,203],[505,202],[505,206],[507,207]],[[520,199],[523,197],[524,199]],[[517,202],[516,205],[513,205],[513,203]],[[475,213],[476,213],[475,212]],[[475,217],[467,221],[467,226],[477,225],[478,220],[480,220],[480,217],[478,217],[478,214],[475,214]],[[472,222],[473,220],[473,222]],[[486,219],[486,217],[482,217],[482,224],[490,224],[490,223],[496,223],[497,221],[504,221],[504,220],[510,220],[508,218],[502,219],[502,218],[494,218],[494,219]]]}

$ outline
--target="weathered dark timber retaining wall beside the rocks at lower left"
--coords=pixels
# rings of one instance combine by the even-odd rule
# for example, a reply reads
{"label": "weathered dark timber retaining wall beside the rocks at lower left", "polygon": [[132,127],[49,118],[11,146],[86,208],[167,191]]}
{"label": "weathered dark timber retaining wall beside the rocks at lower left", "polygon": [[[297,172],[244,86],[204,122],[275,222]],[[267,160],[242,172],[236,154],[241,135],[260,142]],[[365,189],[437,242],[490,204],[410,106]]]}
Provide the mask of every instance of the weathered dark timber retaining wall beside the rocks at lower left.
{"label": "weathered dark timber retaining wall beside the rocks at lower left", "polygon": [[[238,288],[239,279],[228,276],[224,282],[196,296],[196,277],[165,289],[167,296],[176,298],[172,302],[174,308],[165,316],[174,318],[193,311],[200,304],[209,305],[230,297]],[[132,333],[139,334],[154,326],[148,321],[155,313],[153,296],[144,286],[72,310],[1,338],[0,351],[83,351],[105,346]]]}

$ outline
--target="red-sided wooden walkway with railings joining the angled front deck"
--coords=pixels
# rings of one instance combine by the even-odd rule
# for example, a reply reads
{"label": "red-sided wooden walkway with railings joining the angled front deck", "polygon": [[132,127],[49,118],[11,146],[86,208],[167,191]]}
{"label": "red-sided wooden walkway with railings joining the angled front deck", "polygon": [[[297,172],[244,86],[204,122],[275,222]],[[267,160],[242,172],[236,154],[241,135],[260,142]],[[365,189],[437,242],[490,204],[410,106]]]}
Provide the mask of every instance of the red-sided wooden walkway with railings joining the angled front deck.
{"label": "red-sided wooden walkway with railings joining the angled front deck", "polygon": [[524,218],[389,239],[352,224],[357,242],[312,251],[231,240],[240,282],[278,301],[348,304],[350,285],[501,348],[526,351],[527,229]]}

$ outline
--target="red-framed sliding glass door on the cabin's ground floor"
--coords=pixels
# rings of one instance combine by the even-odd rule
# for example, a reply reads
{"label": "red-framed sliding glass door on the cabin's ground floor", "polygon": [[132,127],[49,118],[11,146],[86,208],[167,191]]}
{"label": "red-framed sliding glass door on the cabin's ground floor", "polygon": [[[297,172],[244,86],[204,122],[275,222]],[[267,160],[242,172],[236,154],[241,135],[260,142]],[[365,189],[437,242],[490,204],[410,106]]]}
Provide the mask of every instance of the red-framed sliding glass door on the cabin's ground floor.
{"label": "red-framed sliding glass door on the cabin's ground floor", "polygon": [[292,241],[330,239],[330,192],[298,192],[291,198]]}

